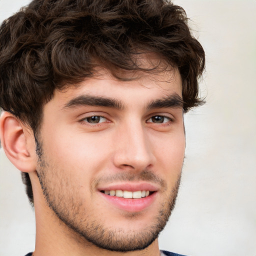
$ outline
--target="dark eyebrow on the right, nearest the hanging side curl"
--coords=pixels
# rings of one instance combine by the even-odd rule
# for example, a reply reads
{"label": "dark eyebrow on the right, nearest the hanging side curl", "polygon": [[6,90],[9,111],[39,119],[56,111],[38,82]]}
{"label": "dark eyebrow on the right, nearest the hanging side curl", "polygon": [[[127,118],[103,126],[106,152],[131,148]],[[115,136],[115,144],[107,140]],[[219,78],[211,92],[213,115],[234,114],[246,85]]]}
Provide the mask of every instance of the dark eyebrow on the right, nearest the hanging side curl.
{"label": "dark eyebrow on the right, nearest the hanging side curl", "polygon": [[177,94],[170,94],[164,98],[152,100],[148,105],[147,109],[152,108],[164,108],[164,107],[173,107],[173,108],[183,108],[184,101]]}

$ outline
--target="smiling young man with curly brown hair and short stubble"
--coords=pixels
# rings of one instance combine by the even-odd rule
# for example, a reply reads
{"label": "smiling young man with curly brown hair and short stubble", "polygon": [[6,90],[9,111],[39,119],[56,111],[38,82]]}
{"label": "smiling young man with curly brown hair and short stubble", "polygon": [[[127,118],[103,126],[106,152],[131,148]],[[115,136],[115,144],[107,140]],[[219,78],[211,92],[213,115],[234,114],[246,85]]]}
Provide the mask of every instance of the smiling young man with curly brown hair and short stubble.
{"label": "smiling young man with curly brown hair and short stubble", "polygon": [[204,51],[164,0],[34,0],[0,28],[0,140],[35,209],[27,255],[178,255],[183,113]]}

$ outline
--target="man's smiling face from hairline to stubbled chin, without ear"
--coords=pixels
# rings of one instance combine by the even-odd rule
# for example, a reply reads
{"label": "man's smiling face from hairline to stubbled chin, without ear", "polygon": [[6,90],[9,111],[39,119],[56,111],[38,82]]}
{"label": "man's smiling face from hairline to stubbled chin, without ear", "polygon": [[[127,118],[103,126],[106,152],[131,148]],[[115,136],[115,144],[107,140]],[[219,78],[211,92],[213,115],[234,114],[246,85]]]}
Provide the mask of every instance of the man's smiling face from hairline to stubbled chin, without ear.
{"label": "man's smiling face from hairline to stubbled chin, without ear", "polygon": [[157,238],[184,157],[178,71],[139,75],[121,81],[105,71],[55,91],[38,137],[48,206],[72,232],[109,250],[142,249]]}

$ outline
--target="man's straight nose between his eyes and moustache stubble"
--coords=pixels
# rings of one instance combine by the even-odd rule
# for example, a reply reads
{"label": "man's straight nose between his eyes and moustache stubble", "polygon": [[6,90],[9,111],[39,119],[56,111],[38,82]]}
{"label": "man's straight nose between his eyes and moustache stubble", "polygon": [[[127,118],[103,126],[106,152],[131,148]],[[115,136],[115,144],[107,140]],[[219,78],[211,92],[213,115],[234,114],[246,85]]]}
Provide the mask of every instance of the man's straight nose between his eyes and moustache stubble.
{"label": "man's straight nose between his eyes and moustache stubble", "polygon": [[117,131],[114,165],[125,170],[143,170],[154,163],[153,148],[140,121],[129,122]]}

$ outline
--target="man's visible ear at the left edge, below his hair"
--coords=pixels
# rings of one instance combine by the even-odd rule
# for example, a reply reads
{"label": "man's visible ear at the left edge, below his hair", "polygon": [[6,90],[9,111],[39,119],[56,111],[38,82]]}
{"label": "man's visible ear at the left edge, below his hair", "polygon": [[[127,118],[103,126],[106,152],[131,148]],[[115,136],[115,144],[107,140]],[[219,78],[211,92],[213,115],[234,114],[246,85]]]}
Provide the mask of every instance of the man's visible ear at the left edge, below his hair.
{"label": "man's visible ear at the left edge, below his hair", "polygon": [[36,168],[33,132],[14,115],[4,111],[0,116],[0,140],[6,156],[23,172]]}

